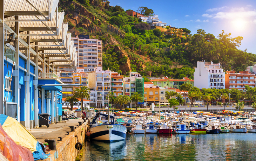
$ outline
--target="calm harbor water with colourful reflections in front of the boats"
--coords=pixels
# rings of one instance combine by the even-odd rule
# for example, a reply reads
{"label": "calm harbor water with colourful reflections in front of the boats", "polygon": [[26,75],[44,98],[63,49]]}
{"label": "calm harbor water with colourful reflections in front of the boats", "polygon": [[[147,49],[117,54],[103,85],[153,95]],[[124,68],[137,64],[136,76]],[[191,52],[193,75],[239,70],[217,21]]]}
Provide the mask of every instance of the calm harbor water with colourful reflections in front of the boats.
{"label": "calm harbor water with colourful reflections in front of the boats", "polygon": [[256,133],[127,134],[126,140],[86,142],[83,161],[256,160]]}

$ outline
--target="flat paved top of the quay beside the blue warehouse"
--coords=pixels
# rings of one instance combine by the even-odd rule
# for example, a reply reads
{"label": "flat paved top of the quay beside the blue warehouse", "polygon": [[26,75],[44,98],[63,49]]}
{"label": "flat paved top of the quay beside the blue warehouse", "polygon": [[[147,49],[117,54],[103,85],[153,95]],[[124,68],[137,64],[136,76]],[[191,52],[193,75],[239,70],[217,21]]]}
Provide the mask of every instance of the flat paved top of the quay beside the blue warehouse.
{"label": "flat paved top of the quay beside the blue warehouse", "polygon": [[82,119],[69,119],[66,121],[66,123],[58,123],[58,124],[50,124],[50,126],[47,128],[46,126],[42,126],[40,128],[33,128],[32,131],[29,131],[38,141],[42,143],[45,142],[45,139],[55,139],[56,144],[59,142],[60,138],[62,139],[66,136],[66,131],[70,132],[70,128],[68,126],[75,126],[79,125],[78,122],[83,122]]}

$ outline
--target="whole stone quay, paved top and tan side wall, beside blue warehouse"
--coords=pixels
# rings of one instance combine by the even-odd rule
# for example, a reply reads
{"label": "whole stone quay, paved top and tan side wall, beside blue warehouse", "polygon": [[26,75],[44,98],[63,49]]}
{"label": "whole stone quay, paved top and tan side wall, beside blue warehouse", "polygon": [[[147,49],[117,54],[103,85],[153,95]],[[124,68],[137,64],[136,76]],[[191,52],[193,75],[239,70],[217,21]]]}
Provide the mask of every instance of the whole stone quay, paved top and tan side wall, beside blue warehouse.
{"label": "whole stone quay, paved top and tan side wall, beside blue warehouse", "polygon": [[[77,135],[79,142],[84,144],[85,135],[89,129],[87,123],[83,123],[82,126],[77,127],[76,125],[79,125],[78,122],[83,122],[83,120],[79,118],[69,119],[66,122],[61,121],[57,124],[50,124],[48,128],[43,126],[41,128],[33,128],[31,131],[29,131],[38,141],[42,143],[47,143],[45,142],[45,139],[56,140],[56,151],[48,151],[50,155],[49,158],[45,159],[45,161],[75,161],[76,156],[79,154],[75,149],[75,144],[77,143],[75,136]],[[70,132],[70,128],[68,126],[75,126],[75,131]],[[69,134],[67,135],[66,132],[69,132]],[[60,140],[58,137],[61,137],[62,140],[58,141]]]}

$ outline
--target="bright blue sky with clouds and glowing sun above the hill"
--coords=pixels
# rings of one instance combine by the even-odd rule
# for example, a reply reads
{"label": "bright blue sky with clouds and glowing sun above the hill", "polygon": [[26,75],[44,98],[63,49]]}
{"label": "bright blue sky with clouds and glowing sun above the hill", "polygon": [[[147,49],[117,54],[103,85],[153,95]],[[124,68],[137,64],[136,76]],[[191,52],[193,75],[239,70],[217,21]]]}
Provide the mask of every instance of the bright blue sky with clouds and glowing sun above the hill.
{"label": "bright blue sky with clouds and glowing sun above the hill", "polygon": [[148,7],[159,15],[159,20],[177,28],[187,28],[191,34],[204,29],[206,34],[231,33],[242,36],[238,49],[256,54],[256,1],[255,0],[109,0],[110,6],[137,11]]}

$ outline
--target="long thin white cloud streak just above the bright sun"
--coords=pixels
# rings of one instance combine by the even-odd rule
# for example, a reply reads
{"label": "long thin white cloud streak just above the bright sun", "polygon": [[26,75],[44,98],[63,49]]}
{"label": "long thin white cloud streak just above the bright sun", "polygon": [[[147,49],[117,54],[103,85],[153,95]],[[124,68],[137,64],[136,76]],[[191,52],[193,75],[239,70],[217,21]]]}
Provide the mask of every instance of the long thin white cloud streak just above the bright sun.
{"label": "long thin white cloud streak just above the bright sun", "polygon": [[214,19],[236,19],[236,18],[250,18],[255,17],[256,11],[246,11],[246,12],[218,12],[214,15]]}

